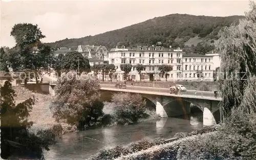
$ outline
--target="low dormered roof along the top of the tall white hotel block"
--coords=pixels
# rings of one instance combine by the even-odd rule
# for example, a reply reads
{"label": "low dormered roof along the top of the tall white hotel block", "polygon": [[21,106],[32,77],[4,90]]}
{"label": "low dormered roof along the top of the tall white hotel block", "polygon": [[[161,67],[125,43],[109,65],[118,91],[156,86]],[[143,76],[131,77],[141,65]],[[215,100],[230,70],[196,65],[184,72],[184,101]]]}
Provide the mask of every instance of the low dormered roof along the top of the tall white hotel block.
{"label": "low dormered roof along the top of the tall white hotel block", "polygon": [[[116,48],[112,48],[110,52],[115,51]],[[125,49],[128,49],[128,51],[174,51],[177,49],[176,47],[174,48],[165,48],[163,46],[136,46],[136,47],[125,47]]]}

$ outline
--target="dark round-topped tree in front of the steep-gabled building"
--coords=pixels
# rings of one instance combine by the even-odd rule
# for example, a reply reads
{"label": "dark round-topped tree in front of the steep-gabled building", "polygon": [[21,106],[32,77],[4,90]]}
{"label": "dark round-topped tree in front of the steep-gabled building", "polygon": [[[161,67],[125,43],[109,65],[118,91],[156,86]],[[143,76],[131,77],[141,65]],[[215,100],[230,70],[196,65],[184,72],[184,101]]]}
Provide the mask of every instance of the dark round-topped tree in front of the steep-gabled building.
{"label": "dark round-topped tree in front of the steep-gabled building", "polygon": [[68,52],[65,55],[63,61],[63,69],[66,71],[77,70],[78,71],[78,62],[79,62],[79,73],[85,71],[89,72],[91,67],[89,60],[84,58],[81,53],[77,51]]}

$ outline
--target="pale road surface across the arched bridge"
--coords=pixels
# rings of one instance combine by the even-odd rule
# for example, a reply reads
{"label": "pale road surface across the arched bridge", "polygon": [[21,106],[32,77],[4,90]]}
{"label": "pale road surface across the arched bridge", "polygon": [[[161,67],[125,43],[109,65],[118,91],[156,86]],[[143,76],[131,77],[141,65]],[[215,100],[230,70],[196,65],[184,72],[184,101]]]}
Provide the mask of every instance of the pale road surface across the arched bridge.
{"label": "pale road surface across the arched bridge", "polygon": [[[116,88],[115,85],[108,85],[108,84],[100,84],[101,87],[105,88]],[[138,90],[138,91],[148,91],[148,92],[161,92],[161,93],[170,93],[169,89],[163,89],[163,88],[151,88],[151,87],[132,87],[132,86],[126,86],[126,89],[129,90]],[[196,94],[195,94],[196,93]],[[182,91],[182,95],[189,95],[189,96],[203,96],[203,97],[214,97],[214,92],[206,92],[206,91]]]}

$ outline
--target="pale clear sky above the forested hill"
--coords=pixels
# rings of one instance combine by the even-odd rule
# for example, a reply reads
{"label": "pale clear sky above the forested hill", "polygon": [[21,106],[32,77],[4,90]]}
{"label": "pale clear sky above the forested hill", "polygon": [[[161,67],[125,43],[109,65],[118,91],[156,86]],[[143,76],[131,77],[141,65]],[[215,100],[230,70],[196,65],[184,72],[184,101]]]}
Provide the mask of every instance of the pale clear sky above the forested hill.
{"label": "pale clear sky above the forested hill", "polygon": [[0,46],[9,47],[15,45],[10,32],[16,23],[38,24],[46,36],[42,42],[55,42],[93,36],[168,14],[230,16],[249,10],[249,1],[243,0],[0,1]]}

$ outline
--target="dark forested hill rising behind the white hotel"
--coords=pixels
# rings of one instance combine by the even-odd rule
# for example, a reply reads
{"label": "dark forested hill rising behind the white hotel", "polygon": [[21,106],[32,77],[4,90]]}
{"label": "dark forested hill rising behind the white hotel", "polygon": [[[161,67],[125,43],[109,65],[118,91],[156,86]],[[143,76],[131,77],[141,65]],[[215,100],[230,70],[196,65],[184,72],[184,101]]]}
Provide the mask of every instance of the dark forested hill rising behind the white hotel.
{"label": "dark forested hill rising behind the white hotel", "polygon": [[198,43],[204,45],[205,42],[213,43],[212,39],[217,38],[218,31],[223,26],[237,23],[242,18],[244,16],[212,17],[170,14],[95,36],[67,38],[48,44],[52,47],[71,48],[76,48],[80,44],[103,45],[113,48],[119,41],[125,42],[127,45],[152,45],[158,41],[161,41],[164,46],[175,44],[179,44],[181,47],[192,44],[196,46]]}

